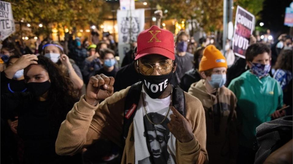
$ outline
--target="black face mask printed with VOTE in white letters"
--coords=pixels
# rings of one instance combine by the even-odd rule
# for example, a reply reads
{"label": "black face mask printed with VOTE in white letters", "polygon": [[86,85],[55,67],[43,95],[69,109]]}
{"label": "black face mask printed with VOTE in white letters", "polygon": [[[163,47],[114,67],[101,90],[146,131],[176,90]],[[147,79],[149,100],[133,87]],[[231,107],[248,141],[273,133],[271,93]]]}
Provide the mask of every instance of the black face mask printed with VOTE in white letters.
{"label": "black face mask printed with VOTE in white letters", "polygon": [[173,72],[159,76],[147,76],[139,73],[140,79],[143,80],[143,85],[145,86],[147,94],[153,99],[160,97],[166,90],[171,81],[172,75]]}

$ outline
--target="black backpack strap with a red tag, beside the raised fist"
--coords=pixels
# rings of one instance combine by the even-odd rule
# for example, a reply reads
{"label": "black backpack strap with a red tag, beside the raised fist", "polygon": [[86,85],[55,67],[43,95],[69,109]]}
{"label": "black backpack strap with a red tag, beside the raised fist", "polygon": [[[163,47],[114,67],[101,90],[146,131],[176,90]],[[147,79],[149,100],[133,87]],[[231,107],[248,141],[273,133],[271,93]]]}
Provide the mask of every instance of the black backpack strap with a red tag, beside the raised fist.
{"label": "black backpack strap with a red tag, beside the raised fist", "polygon": [[130,87],[125,99],[122,135],[123,147],[125,145],[125,139],[127,138],[130,124],[132,123],[134,115],[136,113],[136,108],[139,103],[142,86],[143,83],[141,81],[133,84]]}

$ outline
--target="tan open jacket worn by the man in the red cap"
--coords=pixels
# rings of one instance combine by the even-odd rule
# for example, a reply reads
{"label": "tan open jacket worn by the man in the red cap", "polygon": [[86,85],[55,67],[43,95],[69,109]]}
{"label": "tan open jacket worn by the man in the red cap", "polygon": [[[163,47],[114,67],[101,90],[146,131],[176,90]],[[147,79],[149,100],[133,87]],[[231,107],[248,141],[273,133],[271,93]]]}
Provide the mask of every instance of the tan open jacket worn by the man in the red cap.
{"label": "tan open jacket worn by the man in the red cap", "polygon": [[[72,155],[98,139],[107,138],[122,146],[124,101],[130,87],[115,92],[101,104],[92,106],[84,96],[68,112],[61,124],[56,140],[58,155]],[[185,94],[186,118],[191,121],[194,139],[187,143],[176,142],[176,163],[208,163],[206,151],[206,125],[201,102]],[[133,123],[125,140],[121,163],[135,163]]]}

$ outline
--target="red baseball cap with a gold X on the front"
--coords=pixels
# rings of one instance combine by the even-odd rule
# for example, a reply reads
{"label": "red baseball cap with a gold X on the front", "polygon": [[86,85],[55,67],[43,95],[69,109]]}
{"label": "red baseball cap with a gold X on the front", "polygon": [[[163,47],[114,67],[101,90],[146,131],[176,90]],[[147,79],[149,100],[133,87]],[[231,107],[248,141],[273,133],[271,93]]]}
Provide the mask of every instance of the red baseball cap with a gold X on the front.
{"label": "red baseball cap with a gold X on the front", "polygon": [[159,54],[175,60],[175,43],[173,33],[151,26],[137,36],[137,51],[135,60],[149,54]]}

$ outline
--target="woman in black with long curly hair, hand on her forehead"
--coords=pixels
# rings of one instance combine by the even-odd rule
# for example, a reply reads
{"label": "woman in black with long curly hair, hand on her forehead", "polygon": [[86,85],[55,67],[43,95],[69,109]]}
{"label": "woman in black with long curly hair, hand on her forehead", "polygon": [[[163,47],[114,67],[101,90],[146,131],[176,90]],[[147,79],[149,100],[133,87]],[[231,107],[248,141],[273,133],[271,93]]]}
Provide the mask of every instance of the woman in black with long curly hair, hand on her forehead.
{"label": "woman in black with long curly hair, hand on her forehead", "polygon": [[5,74],[9,78],[24,69],[28,92],[1,96],[1,110],[7,118],[18,114],[17,134],[24,140],[24,163],[63,163],[72,157],[55,153],[61,122],[76,102],[73,84],[50,59],[32,54],[21,56]]}

